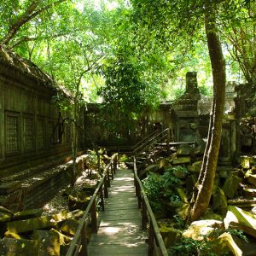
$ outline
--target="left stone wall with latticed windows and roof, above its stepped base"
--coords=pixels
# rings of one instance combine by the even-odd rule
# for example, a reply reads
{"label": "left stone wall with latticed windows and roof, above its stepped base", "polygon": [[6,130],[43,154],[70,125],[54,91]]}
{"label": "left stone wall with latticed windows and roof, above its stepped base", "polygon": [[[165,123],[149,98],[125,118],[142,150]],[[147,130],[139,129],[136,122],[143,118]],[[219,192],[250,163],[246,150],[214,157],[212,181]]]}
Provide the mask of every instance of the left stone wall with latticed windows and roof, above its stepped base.
{"label": "left stone wall with latticed windows and roof, above its stepped base", "polygon": [[32,63],[0,48],[0,173],[70,149],[70,128],[61,134],[52,102],[60,89],[52,84]]}

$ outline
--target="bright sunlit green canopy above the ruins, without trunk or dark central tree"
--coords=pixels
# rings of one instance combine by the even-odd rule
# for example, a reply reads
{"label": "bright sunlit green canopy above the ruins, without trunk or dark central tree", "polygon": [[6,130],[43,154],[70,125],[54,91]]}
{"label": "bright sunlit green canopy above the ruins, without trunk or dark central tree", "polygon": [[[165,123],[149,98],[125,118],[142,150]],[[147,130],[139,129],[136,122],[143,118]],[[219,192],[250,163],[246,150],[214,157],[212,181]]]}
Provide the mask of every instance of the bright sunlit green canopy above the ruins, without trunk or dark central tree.
{"label": "bright sunlit green canopy above the ruins, without trunk or dark central tree", "polygon": [[[224,9],[217,19],[230,79],[241,69],[247,81],[254,83],[255,1],[214,2]],[[0,4],[0,44],[64,84],[73,80],[65,61],[67,44],[73,44],[77,49],[83,45],[87,61],[97,70],[119,55],[119,49],[125,49],[140,79],[151,84],[147,95],[152,95],[152,87],[161,91],[156,102],[182,90],[184,73],[191,69],[199,72],[201,90],[211,93],[210,60],[200,15],[203,6],[203,1],[4,1]],[[71,50],[73,60],[84,58],[84,50]],[[83,65],[87,70],[88,63]],[[93,88],[91,101],[105,82],[103,73],[91,68],[91,63],[89,66],[90,72],[84,73],[81,82],[85,81],[86,90]]]}

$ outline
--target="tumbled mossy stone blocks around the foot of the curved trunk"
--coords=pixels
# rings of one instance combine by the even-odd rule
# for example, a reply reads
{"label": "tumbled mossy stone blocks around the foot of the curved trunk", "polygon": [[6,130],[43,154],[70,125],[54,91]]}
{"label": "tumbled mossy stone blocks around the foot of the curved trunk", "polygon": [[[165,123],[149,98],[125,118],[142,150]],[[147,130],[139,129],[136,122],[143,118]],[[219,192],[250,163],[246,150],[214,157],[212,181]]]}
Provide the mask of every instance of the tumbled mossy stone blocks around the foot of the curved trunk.
{"label": "tumbled mossy stone blocks around the foot of the curved trunk", "polygon": [[[198,148],[188,144],[173,149],[174,153],[140,172],[142,178],[147,177],[149,173],[161,176],[166,168],[172,166],[172,174],[181,181],[180,185],[177,185],[177,195],[181,203],[177,204],[173,211],[173,205],[171,209],[170,202],[163,200],[163,204],[166,204],[164,209],[167,211],[161,214],[158,220],[166,247],[172,248],[177,242],[187,238],[209,243],[211,252],[217,255],[255,255],[256,156],[241,156],[241,164],[236,168],[218,166],[207,213],[202,220],[193,222],[184,230],[184,218],[189,211],[193,187],[201,171],[201,153]],[[188,172],[177,172],[177,166],[185,167]],[[249,242],[235,236],[236,232],[232,230],[242,230]]]}

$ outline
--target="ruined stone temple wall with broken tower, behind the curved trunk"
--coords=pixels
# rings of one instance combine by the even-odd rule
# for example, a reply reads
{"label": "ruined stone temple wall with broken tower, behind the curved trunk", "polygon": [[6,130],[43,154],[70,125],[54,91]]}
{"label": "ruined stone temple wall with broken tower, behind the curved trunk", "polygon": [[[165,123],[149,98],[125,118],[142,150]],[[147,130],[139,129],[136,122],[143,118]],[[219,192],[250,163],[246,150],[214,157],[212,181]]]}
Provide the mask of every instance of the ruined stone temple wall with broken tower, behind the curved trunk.
{"label": "ruined stone temple wall with broken tower, behind the curved trunk", "polygon": [[[244,119],[248,111],[253,113],[254,105],[247,101],[249,93],[245,94],[244,90],[239,89],[240,87],[241,85],[238,86],[233,82],[227,83],[226,86],[223,135],[219,153],[219,162],[224,165],[234,164],[244,148],[249,148],[252,152],[255,150],[256,120]],[[252,91],[250,93],[254,95]],[[125,131],[123,143],[131,145],[157,129],[163,131],[171,128],[173,141],[204,144],[203,141],[207,140],[211,108],[212,97],[200,94],[196,72],[189,72],[186,74],[186,90],[183,96],[175,102],[161,103],[158,109],[145,112],[143,118],[136,121],[134,131]],[[108,129],[102,128],[98,121],[101,118],[100,105],[89,104],[84,116],[86,129],[96,133],[97,143],[106,147],[110,144],[114,145],[113,134],[111,135]],[[130,136],[127,137],[127,134]]]}

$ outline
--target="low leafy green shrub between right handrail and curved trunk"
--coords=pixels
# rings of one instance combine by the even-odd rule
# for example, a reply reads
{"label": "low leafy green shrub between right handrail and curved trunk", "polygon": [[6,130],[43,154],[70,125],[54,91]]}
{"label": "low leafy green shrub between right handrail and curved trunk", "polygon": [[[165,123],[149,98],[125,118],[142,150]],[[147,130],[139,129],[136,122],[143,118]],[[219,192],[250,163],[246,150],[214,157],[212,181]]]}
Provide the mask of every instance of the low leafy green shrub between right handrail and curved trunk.
{"label": "low leafy green shrub between right handrail and curved trunk", "polygon": [[162,212],[165,204],[170,207],[181,205],[181,200],[177,195],[177,187],[182,182],[173,173],[177,170],[184,173],[188,172],[183,166],[166,167],[163,175],[149,173],[148,177],[143,180],[143,187],[154,212]]}

